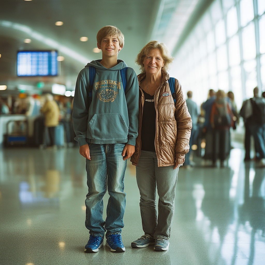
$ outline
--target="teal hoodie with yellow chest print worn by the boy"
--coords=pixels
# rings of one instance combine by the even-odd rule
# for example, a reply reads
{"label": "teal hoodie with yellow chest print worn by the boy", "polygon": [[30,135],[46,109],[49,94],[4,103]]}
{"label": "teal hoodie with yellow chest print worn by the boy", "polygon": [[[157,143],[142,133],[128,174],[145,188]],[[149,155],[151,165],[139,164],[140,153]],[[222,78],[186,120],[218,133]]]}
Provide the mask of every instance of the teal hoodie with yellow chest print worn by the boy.
{"label": "teal hoodie with yellow chest print worn by the boy", "polygon": [[[76,81],[73,102],[75,140],[79,146],[87,143],[135,145],[138,135],[139,85],[132,68],[127,70],[127,88],[124,93],[120,70],[127,67],[118,60],[112,68],[91,61],[80,71]],[[89,106],[89,66],[96,68]]]}

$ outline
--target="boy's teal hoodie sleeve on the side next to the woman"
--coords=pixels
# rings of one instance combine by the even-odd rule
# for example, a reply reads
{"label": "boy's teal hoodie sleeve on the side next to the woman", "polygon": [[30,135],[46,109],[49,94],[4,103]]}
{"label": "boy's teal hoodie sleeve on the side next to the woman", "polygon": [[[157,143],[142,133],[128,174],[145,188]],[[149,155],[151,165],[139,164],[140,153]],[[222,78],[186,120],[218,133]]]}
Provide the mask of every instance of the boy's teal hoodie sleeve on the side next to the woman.
{"label": "boy's teal hoodie sleeve on the side next to the woman", "polygon": [[136,73],[132,68],[128,68],[127,70],[127,88],[125,98],[129,117],[127,144],[135,145],[135,141],[138,136],[139,83]]}

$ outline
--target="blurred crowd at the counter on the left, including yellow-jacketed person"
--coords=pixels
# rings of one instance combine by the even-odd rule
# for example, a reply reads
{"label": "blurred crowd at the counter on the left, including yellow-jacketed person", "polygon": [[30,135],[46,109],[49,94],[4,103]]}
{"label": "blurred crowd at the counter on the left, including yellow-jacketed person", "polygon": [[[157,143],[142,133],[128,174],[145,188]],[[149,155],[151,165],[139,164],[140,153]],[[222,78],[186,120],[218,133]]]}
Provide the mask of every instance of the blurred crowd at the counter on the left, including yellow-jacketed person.
{"label": "blurred crowd at the counter on the left, including yellow-jacketed person", "polygon": [[[7,98],[0,98],[0,114],[24,114],[34,119],[32,141],[37,146],[55,146],[56,130],[60,127],[59,125],[63,126],[60,138],[63,138],[66,143],[74,143],[72,111],[73,97],[49,93],[43,95],[21,93],[17,96],[9,95]],[[46,128],[48,136],[45,135]]]}

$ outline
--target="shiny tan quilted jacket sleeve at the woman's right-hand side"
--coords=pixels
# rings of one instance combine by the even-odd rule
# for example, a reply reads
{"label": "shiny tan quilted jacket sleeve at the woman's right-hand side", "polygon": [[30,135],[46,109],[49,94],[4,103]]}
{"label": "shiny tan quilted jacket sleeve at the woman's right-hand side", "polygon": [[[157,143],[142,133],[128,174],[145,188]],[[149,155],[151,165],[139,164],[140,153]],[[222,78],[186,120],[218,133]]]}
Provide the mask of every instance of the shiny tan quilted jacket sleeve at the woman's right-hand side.
{"label": "shiny tan quilted jacket sleeve at the woman's right-hand side", "polygon": [[176,103],[175,103],[175,119],[177,122],[177,142],[175,148],[175,156],[178,164],[183,164],[185,154],[189,152],[189,138],[191,137],[192,121],[188,112],[186,100],[184,99],[181,85],[175,79]]}

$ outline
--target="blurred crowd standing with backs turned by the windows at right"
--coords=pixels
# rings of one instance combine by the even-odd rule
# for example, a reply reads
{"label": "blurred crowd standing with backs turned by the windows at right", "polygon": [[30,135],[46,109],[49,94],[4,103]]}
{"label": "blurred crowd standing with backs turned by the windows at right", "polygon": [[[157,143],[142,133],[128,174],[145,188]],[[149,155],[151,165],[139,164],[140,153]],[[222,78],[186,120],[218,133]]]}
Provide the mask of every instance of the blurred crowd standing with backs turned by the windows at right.
{"label": "blurred crowd standing with backs turned by the windows at right", "polygon": [[[255,143],[255,160],[258,166],[265,167],[265,92],[259,97],[258,87],[254,88],[254,96],[245,100],[240,112],[237,110],[235,97],[232,91],[215,92],[209,90],[208,99],[201,104],[198,112],[197,104],[192,100],[192,91],[188,91],[186,100],[192,118],[192,132],[190,151],[186,155],[184,166],[193,165],[190,155],[197,150],[199,156],[212,160],[212,165],[224,167],[231,150],[231,130],[236,130],[239,117],[245,123],[245,161],[250,160],[250,136]],[[203,148],[204,152],[201,152]]]}

